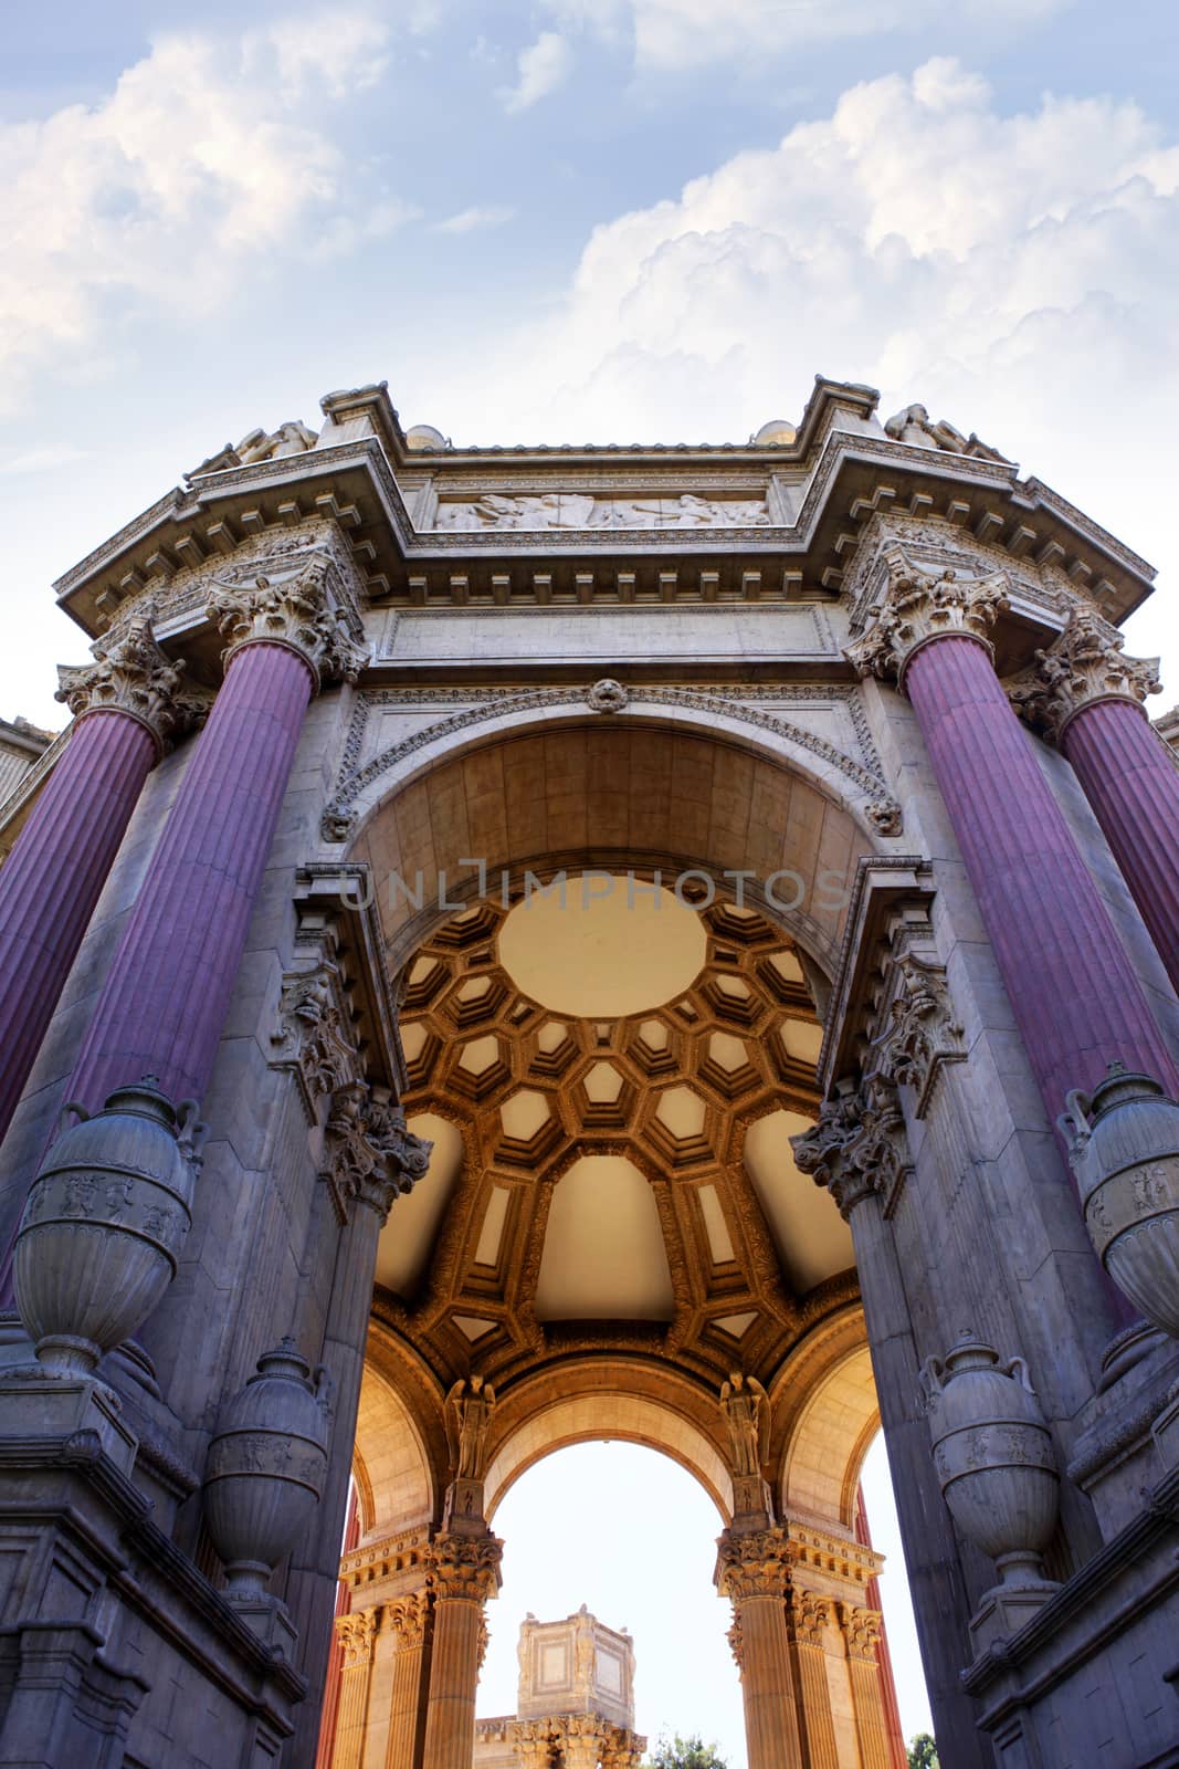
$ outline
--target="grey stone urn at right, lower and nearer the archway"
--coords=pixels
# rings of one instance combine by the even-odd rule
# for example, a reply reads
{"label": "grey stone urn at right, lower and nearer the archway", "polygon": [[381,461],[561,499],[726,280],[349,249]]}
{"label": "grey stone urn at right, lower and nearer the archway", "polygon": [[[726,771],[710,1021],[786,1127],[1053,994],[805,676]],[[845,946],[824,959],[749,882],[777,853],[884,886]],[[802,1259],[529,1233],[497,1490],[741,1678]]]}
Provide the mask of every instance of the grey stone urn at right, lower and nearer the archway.
{"label": "grey stone urn at right, lower and nearer the archway", "polygon": [[1057,1521],[1061,1479],[1027,1364],[965,1332],[921,1367],[933,1463],[949,1512],[995,1562],[1002,1587],[1045,1589],[1041,1553]]}

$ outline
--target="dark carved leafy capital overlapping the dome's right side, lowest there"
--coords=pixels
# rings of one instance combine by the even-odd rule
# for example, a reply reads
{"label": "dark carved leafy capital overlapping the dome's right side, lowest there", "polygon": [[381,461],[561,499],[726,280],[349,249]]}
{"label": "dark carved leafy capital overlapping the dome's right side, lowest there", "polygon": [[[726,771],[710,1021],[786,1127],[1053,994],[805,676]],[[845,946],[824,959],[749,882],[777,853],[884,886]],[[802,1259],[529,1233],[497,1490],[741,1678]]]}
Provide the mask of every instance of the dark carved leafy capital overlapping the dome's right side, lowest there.
{"label": "dark carved leafy capital overlapping the dome's right side, lowest there", "polygon": [[845,1221],[871,1196],[889,1217],[912,1171],[896,1088],[879,1074],[824,1100],[818,1123],[790,1146],[799,1171],[831,1192]]}

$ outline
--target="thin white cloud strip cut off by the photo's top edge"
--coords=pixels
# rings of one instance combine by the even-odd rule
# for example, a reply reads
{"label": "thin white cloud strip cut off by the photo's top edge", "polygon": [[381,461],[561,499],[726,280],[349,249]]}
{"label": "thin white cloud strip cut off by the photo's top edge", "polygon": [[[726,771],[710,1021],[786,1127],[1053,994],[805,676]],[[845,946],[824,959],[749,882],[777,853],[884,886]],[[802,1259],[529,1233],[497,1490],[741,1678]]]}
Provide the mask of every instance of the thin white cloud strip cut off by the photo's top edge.
{"label": "thin white cloud strip cut off by the photo's top edge", "polygon": [[[1073,0],[958,0],[953,28],[1025,28]],[[947,23],[944,0],[546,0],[566,28],[608,41],[629,34],[643,69],[757,60],[854,37],[928,37]]]}

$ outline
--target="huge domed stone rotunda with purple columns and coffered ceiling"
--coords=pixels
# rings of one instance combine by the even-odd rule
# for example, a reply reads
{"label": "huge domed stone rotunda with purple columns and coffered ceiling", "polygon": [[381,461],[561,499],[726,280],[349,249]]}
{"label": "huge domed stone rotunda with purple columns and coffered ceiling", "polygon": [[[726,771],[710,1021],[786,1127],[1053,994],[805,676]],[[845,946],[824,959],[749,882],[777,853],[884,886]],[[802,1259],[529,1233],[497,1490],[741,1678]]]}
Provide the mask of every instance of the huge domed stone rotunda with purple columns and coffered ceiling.
{"label": "huge domed stone rotunda with purple columns and coffered ceiling", "polygon": [[322,409],[60,580],[0,814],[0,1765],[470,1769],[497,1507],[608,1436],[751,1769],[882,1769],[880,1424],[942,1760],[1179,1762],[1149,566],[857,386]]}

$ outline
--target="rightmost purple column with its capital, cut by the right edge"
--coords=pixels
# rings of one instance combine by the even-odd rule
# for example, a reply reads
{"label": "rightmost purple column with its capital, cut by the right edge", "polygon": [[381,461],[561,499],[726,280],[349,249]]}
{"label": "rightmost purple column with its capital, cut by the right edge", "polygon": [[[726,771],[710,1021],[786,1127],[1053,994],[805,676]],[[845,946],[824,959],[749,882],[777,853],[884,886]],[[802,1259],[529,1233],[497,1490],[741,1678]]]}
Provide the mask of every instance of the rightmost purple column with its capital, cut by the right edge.
{"label": "rightmost purple column with its capital, cut by the right edge", "polygon": [[1122,656],[1124,644],[1092,609],[1075,609],[1016,701],[1073,764],[1179,989],[1179,764],[1144,706],[1160,688],[1158,658]]}

